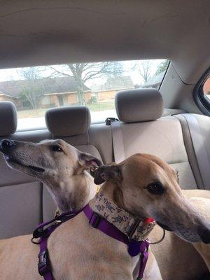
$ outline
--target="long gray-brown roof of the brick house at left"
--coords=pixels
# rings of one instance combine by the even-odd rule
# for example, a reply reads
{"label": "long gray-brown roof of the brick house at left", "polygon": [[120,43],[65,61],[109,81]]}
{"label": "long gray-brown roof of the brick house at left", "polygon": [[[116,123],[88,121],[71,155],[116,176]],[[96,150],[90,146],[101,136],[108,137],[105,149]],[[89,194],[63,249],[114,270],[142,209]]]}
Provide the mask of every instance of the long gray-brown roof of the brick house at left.
{"label": "long gray-brown roof of the brick house at left", "polygon": [[[31,86],[36,86],[43,94],[77,92],[77,85],[72,76],[41,78],[35,80],[33,85],[31,85],[29,80],[9,80],[0,82],[0,92],[11,97],[18,97],[24,89],[30,88]],[[90,91],[90,88],[84,86],[84,90]]]}

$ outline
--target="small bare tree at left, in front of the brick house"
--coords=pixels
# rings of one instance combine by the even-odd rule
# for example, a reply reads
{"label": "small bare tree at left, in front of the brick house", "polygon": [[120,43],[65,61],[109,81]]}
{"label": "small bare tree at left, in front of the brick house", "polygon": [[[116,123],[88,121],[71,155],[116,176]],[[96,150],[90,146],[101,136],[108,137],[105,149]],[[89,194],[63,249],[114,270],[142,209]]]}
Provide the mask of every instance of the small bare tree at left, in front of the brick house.
{"label": "small bare tree at left, in front of the brick house", "polygon": [[23,79],[20,98],[27,100],[32,109],[38,108],[38,100],[43,94],[42,87],[38,83],[38,79],[42,78],[42,71],[39,67],[27,67],[18,71],[20,78]]}

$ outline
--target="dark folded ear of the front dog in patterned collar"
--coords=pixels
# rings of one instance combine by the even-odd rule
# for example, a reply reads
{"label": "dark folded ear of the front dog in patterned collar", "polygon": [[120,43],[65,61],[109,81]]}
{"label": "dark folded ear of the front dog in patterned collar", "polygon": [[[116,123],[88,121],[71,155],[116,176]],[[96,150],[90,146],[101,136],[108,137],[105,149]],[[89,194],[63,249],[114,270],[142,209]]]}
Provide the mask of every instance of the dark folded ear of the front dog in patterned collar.
{"label": "dark folded ear of the front dog in patterned collar", "polygon": [[103,165],[94,172],[94,183],[100,185],[105,181],[121,182],[123,176],[118,165]]}

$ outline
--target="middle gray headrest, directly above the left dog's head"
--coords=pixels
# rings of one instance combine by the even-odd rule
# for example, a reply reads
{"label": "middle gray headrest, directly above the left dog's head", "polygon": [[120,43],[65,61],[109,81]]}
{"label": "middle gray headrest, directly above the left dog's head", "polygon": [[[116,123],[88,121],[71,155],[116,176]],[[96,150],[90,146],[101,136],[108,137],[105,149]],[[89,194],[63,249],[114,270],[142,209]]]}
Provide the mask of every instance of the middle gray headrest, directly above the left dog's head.
{"label": "middle gray headrest, directly above the left dog's head", "polygon": [[90,121],[90,110],[85,106],[53,108],[45,113],[48,130],[58,137],[84,134]]}

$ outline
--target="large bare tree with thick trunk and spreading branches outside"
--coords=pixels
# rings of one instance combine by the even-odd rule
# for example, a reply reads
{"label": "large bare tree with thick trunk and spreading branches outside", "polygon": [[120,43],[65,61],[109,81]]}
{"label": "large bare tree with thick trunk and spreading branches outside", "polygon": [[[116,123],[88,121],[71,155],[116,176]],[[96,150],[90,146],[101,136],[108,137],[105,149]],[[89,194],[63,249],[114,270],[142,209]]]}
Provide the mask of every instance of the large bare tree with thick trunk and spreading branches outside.
{"label": "large bare tree with thick trunk and spreading branches outside", "polygon": [[101,78],[102,76],[121,76],[123,64],[121,62],[71,63],[62,68],[48,66],[52,76],[73,76],[78,91],[78,103],[85,105],[84,86],[87,80]]}

